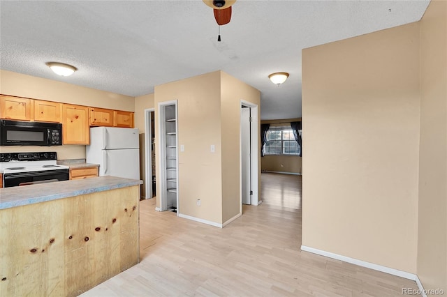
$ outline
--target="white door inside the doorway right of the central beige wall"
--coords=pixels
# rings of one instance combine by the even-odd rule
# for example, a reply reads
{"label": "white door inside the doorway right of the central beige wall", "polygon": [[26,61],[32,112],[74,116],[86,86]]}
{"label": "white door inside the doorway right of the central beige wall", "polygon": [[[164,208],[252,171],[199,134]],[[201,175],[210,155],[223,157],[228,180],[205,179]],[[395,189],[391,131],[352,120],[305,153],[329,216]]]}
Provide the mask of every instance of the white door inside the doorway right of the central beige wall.
{"label": "white door inside the doorway right of the central beige wall", "polygon": [[242,204],[251,204],[251,166],[250,166],[250,108],[240,111],[240,141],[242,162]]}

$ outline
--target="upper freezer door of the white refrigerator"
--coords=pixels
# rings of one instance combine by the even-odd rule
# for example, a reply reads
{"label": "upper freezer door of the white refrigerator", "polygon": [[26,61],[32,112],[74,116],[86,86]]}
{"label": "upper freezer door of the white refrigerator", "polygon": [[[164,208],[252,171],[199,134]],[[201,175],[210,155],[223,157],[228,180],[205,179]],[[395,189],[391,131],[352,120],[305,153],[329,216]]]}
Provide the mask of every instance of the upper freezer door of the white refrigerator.
{"label": "upper freezer door of the white refrigerator", "polygon": [[104,128],[103,149],[139,148],[138,129]]}

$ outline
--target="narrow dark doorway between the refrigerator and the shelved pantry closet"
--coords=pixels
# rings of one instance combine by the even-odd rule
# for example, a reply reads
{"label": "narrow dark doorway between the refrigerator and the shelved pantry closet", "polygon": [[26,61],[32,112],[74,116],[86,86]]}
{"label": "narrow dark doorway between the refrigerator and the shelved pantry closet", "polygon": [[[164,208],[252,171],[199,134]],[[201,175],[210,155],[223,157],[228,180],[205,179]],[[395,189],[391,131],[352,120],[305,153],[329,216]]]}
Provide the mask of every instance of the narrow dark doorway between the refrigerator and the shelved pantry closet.
{"label": "narrow dark doorway between the refrigerator and the shelved pantry closet", "polygon": [[155,196],[155,109],[145,109],[145,199]]}

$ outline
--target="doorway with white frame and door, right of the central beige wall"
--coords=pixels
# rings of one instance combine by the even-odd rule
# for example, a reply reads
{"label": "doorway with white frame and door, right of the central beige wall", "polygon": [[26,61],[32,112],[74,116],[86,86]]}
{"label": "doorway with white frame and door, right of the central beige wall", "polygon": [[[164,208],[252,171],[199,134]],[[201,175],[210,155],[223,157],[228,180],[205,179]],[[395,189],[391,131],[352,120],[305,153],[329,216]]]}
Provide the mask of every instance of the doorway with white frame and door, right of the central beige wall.
{"label": "doorway with white frame and door, right of the central beige wall", "polygon": [[240,108],[240,184],[242,204],[259,205],[259,123],[258,105],[241,100]]}

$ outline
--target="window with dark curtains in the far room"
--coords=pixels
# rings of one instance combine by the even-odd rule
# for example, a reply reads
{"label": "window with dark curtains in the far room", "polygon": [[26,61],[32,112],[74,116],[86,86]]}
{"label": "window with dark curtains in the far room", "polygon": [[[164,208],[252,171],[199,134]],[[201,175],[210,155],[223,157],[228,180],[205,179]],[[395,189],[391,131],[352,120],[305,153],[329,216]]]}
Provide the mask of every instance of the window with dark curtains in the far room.
{"label": "window with dark curtains in the far room", "polygon": [[292,128],[270,128],[264,146],[265,155],[300,155],[300,146]]}

